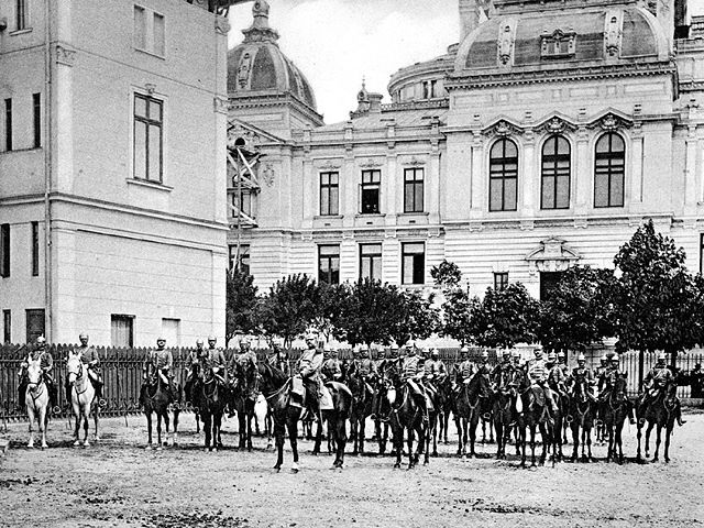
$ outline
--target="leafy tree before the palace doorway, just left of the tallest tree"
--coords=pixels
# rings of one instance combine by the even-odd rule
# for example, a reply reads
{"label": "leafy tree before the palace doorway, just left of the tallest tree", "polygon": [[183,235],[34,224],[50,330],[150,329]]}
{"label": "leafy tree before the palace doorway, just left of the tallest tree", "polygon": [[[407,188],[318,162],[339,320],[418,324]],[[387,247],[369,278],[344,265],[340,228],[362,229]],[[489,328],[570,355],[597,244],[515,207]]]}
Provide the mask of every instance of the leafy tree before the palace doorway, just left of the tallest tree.
{"label": "leafy tree before the palace doorway, just left of the tallest tree", "polygon": [[549,350],[584,351],[614,336],[612,270],[573,266],[540,302],[538,337]]}

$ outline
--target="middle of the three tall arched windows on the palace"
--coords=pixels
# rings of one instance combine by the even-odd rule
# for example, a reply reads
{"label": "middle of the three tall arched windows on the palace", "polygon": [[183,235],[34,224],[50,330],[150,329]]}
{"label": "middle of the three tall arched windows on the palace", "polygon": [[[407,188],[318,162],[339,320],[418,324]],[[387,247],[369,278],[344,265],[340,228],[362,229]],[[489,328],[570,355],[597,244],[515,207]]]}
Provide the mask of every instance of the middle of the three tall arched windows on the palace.
{"label": "middle of the three tall arched windows on the palace", "polygon": [[542,145],[540,209],[570,208],[570,143],[553,135]]}

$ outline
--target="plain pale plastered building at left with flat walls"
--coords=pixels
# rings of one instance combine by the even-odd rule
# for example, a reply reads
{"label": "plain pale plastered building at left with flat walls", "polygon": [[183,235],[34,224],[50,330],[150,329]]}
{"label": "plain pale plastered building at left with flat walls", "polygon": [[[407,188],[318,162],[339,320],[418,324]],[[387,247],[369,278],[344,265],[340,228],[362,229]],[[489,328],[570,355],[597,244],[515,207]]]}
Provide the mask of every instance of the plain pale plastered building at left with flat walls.
{"label": "plain pale plastered building at left with flat walls", "polygon": [[0,0],[4,342],[224,336],[226,3]]}

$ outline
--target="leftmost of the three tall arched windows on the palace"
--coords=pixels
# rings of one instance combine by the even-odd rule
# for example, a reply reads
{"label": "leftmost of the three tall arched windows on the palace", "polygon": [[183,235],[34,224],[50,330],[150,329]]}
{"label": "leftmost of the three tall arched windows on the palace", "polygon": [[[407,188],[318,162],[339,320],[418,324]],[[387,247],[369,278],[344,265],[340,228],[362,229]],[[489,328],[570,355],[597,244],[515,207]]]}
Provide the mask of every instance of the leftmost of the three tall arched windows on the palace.
{"label": "leftmost of the three tall arched windows on the palace", "polygon": [[515,211],[518,194],[518,147],[510,140],[492,146],[488,167],[488,210]]}

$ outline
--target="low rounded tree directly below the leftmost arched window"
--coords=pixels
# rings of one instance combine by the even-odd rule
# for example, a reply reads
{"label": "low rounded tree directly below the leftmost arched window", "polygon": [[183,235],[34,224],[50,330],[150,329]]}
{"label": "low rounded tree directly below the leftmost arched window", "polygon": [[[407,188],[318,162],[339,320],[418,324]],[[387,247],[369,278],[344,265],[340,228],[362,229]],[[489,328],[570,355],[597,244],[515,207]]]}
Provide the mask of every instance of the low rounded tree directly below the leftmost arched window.
{"label": "low rounded tree directly below the leftmost arched window", "polygon": [[538,307],[539,302],[520,283],[499,289],[487,288],[482,302],[474,306],[476,311],[470,316],[476,327],[476,343],[510,348],[520,342],[534,342]]}

